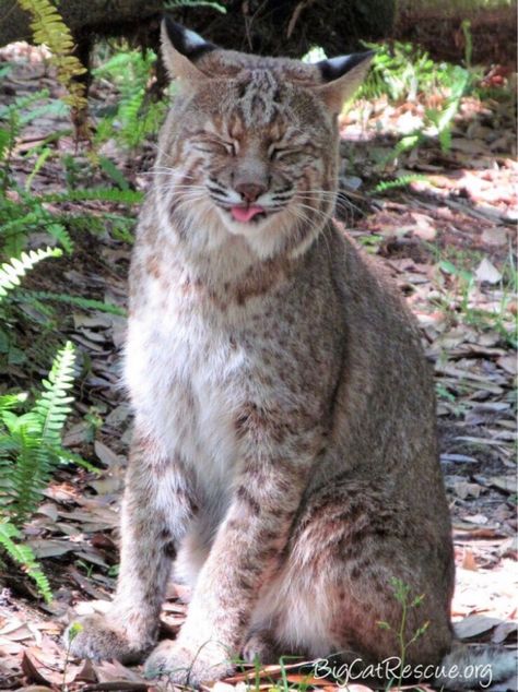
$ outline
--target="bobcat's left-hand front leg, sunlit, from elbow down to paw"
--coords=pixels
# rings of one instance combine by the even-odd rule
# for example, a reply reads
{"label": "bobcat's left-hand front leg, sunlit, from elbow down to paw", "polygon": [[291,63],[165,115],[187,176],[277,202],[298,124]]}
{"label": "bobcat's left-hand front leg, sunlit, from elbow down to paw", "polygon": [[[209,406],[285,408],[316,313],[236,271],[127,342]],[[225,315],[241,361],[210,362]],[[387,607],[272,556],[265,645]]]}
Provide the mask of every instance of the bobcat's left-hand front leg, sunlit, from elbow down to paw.
{"label": "bobcat's left-hand front leg, sunlit, from elbow down to paw", "polygon": [[193,484],[181,461],[136,434],[122,502],[117,592],[105,616],[79,621],[70,641],[74,656],[130,663],[154,644],[170,562],[195,512]]}

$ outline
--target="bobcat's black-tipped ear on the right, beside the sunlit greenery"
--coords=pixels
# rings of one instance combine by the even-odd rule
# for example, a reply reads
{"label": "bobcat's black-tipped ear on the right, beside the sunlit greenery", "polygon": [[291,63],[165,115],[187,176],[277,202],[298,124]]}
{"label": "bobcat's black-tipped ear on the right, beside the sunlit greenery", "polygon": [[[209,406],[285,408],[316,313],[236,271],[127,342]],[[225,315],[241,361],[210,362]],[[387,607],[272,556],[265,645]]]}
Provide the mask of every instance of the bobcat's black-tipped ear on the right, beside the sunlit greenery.
{"label": "bobcat's black-tipped ear on the right, beside the sunlit greenery", "polygon": [[342,110],[343,104],[364,81],[373,57],[374,50],[368,50],[316,63],[326,84],[317,86],[315,91],[330,110],[337,114]]}

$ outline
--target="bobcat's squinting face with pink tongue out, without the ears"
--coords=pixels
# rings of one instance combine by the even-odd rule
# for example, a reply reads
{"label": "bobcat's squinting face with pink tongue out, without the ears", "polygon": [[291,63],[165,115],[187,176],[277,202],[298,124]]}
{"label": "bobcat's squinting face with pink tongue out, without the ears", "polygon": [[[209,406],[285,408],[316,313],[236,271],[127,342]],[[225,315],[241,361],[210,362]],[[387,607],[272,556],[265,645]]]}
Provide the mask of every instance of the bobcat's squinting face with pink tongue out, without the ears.
{"label": "bobcat's squinting face with pink tongue out, without the ears", "polygon": [[334,132],[331,122],[316,127],[311,95],[264,70],[214,87],[213,99],[195,95],[178,135],[185,172],[228,231],[283,234],[329,208]]}

